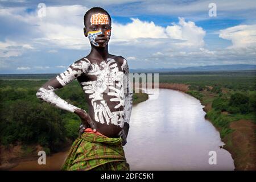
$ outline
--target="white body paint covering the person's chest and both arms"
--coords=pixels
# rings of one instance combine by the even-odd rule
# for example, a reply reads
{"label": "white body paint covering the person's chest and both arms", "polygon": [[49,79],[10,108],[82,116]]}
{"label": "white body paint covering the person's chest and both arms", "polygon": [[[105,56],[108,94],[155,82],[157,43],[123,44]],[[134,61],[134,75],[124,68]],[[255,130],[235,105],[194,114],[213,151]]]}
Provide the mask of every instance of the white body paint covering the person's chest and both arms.
{"label": "white body paint covering the person's chest and both arms", "polygon": [[[122,71],[119,71],[114,59],[102,61],[100,65],[92,64],[88,59],[84,59],[73,63],[67,71],[56,78],[61,85],[65,86],[81,76],[82,73],[95,76],[97,80],[80,83],[84,92],[89,94],[95,121],[123,127],[124,122],[129,123],[130,121],[133,93],[130,92],[129,68],[125,59],[121,68]],[[54,93],[54,90],[54,88],[49,88],[49,90],[40,88],[36,96],[64,110],[73,112],[75,109],[80,109],[62,100]],[[114,106],[117,110],[109,109],[103,98],[104,93],[114,96],[110,101],[118,103]],[[121,106],[123,109],[118,110]]]}

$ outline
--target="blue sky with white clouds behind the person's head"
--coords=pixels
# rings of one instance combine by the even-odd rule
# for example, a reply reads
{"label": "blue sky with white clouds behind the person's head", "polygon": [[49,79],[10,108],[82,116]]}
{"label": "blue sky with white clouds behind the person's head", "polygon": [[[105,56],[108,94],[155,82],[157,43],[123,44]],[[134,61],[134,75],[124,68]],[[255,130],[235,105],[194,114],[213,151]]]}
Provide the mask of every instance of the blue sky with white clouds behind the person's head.
{"label": "blue sky with white clouds behind the person's head", "polygon": [[256,64],[256,1],[0,0],[0,74],[60,73],[88,55],[92,7],[109,12],[109,53],[130,69]]}

